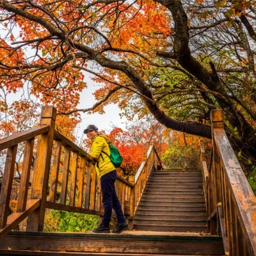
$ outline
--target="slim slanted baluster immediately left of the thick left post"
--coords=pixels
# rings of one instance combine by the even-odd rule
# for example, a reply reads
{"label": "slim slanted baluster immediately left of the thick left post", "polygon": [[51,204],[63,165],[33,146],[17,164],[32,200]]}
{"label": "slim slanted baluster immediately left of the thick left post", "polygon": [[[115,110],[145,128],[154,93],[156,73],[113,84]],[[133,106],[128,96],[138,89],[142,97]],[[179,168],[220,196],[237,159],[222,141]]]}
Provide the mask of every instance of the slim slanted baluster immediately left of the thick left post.
{"label": "slim slanted baluster immediately left of the thick left post", "polygon": [[22,177],[20,178],[17,212],[24,211],[26,209],[29,178],[31,170],[31,162],[33,156],[34,138],[27,140],[24,151],[23,165],[22,165]]}

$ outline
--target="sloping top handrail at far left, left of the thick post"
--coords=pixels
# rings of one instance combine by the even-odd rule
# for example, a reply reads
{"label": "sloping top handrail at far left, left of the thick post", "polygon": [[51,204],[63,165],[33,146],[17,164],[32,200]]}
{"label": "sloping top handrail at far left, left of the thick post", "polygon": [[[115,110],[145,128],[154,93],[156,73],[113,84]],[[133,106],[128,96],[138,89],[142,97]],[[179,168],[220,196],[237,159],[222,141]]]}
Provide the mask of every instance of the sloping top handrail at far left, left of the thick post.
{"label": "sloping top handrail at far left, left of the thick post", "polygon": [[40,125],[27,131],[13,134],[7,138],[1,139],[0,151],[4,150],[5,148],[12,147],[20,142],[33,139],[40,134],[47,133],[49,131],[49,127],[49,125]]}

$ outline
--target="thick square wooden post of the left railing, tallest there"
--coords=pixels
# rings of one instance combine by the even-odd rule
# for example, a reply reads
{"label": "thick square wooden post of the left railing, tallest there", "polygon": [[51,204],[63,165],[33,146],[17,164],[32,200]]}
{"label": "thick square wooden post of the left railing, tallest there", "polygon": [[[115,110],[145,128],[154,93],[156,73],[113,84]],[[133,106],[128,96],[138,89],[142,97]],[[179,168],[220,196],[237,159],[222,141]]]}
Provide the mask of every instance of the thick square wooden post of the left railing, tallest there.
{"label": "thick square wooden post of the left railing, tallest there", "polygon": [[28,217],[27,231],[42,231],[44,228],[48,180],[51,165],[56,109],[43,106],[40,125],[50,125],[49,132],[38,137],[34,173],[31,184],[31,199],[40,199],[40,206]]}

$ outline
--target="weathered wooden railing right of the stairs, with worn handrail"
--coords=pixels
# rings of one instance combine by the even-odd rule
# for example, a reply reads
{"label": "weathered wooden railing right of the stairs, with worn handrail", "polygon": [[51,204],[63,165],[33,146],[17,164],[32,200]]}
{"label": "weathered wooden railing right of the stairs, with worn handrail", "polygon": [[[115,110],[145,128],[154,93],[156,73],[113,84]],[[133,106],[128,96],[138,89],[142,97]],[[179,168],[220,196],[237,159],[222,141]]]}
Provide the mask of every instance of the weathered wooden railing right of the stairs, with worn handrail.
{"label": "weathered wooden railing right of the stairs, with worn handrail", "polygon": [[210,232],[223,237],[226,255],[256,255],[256,198],[225,134],[222,110],[211,111],[211,126],[210,161],[203,146],[200,156]]}

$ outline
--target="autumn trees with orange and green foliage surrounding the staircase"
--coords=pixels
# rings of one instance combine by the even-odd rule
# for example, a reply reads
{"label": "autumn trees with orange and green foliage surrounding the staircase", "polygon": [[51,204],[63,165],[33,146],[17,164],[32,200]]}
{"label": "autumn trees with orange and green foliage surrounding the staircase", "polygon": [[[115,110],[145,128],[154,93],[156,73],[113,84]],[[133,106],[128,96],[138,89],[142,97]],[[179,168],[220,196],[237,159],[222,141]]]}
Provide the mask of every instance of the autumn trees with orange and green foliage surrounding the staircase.
{"label": "autumn trees with orange and green foliage surrounding the staircase", "polygon": [[[127,177],[151,139],[166,166],[194,165],[200,138],[211,138],[210,111],[222,109],[255,191],[255,7],[254,0],[0,0],[1,138],[33,127],[41,106],[54,105],[56,129],[89,150],[77,135],[80,113],[116,104],[129,122],[101,132],[119,147]],[[89,79],[98,84],[93,94],[84,93]],[[22,156],[20,148],[17,178]],[[67,218],[59,226],[70,231],[95,223],[67,216],[52,212],[49,223]]]}

